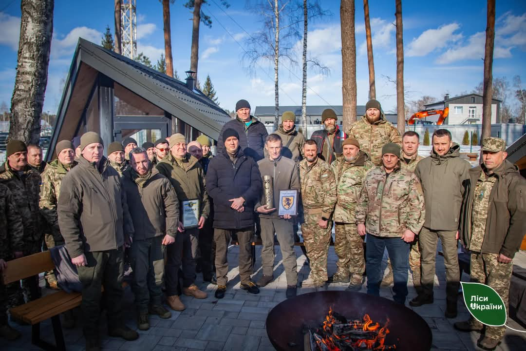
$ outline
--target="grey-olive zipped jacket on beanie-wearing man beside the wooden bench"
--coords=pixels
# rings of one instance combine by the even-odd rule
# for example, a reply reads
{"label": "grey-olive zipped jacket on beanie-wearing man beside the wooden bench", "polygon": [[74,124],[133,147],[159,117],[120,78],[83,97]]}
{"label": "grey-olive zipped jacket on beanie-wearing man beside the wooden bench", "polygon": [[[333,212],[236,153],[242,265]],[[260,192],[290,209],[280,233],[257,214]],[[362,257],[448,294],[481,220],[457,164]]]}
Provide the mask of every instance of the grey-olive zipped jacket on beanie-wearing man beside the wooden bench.
{"label": "grey-olive zipped jacket on beanie-wearing man beside the wooden bench", "polygon": [[97,168],[80,156],[61,188],[58,225],[72,258],[120,248],[134,236],[122,181],[106,157]]}

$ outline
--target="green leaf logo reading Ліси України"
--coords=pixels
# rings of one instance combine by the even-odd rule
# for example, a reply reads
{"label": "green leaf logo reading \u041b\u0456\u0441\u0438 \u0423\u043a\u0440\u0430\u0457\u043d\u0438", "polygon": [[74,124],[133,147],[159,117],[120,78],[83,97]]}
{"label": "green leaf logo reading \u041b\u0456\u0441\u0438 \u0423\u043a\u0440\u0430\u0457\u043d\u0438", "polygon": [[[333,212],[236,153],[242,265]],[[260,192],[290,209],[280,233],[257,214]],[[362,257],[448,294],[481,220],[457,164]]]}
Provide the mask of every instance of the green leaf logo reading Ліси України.
{"label": "green leaf logo reading \u041b\u0456\u0441\u0438 \u0423\u043a\u0440\u0430\u0457\u043d\u0438", "polygon": [[500,327],[506,323],[506,307],[495,290],[480,283],[463,283],[464,303],[469,313],[480,323]]}

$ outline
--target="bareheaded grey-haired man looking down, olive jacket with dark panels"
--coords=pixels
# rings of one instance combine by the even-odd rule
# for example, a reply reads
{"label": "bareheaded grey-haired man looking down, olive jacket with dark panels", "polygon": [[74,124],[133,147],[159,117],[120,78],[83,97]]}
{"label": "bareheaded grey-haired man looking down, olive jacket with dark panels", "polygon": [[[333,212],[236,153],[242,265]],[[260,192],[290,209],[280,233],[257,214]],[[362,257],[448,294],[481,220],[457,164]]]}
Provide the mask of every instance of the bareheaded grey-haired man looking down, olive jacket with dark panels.
{"label": "bareheaded grey-haired man looking down, olive jacket with dark panels", "polygon": [[179,202],[169,180],[152,169],[147,151],[134,148],[130,152],[131,167],[124,171],[123,187],[135,228],[130,248],[133,269],[133,290],[140,330],[149,329],[148,310],[161,318],[171,313],[161,303],[164,276],[162,246],[183,245],[177,235]]}

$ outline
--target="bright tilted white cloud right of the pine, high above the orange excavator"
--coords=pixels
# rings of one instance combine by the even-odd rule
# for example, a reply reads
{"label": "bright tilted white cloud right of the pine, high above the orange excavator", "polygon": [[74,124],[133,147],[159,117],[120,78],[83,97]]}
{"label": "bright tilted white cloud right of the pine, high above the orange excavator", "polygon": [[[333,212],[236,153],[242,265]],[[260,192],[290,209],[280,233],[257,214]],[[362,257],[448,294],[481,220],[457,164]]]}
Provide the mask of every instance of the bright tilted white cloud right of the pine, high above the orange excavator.
{"label": "bright tilted white cloud right of the pine, high above the orange excavator", "polygon": [[460,28],[457,23],[442,25],[437,29],[428,29],[409,43],[406,56],[426,56],[436,49],[449,46],[462,38],[462,34],[453,34]]}

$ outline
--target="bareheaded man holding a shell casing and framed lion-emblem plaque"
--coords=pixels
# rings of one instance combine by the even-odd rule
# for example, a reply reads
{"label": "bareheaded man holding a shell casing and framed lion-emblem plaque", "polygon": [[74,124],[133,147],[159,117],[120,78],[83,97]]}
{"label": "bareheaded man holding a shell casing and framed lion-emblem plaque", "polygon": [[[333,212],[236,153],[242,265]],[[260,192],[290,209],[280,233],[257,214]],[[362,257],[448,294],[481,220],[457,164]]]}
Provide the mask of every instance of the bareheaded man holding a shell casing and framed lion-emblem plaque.
{"label": "bareheaded man holding a shell casing and framed lion-emblem plaque", "polygon": [[[287,297],[296,296],[298,272],[296,253],[294,252],[294,219],[297,215],[299,190],[298,166],[290,158],[281,157],[281,137],[277,134],[267,136],[265,148],[268,158],[258,161],[259,172],[264,182],[262,199],[256,204],[256,211],[261,221],[261,261],[263,276],[256,283],[265,286],[274,279],[274,233],[278,237],[283,266],[287,277]],[[268,187],[268,180],[272,186]],[[267,190],[268,189],[268,190]],[[267,203],[269,195],[274,199],[273,204]]]}

